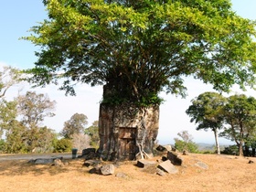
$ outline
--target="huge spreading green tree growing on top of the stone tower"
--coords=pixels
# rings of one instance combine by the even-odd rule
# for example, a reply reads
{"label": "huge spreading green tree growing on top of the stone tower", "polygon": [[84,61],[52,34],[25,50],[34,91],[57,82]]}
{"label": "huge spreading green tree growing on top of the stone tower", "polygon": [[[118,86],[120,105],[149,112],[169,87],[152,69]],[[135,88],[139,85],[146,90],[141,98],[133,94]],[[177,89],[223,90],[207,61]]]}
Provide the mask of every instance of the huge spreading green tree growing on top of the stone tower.
{"label": "huge spreading green tree growing on top of the stone tower", "polygon": [[[255,23],[232,11],[229,0],[43,3],[48,19],[25,37],[41,48],[35,68],[29,70],[30,82],[37,86],[63,79],[60,89],[75,94],[77,82],[103,84],[102,108],[111,105],[111,112],[117,112],[126,103],[123,109],[134,108],[127,113],[151,116],[140,109],[153,106],[158,113],[160,91],[185,96],[187,76],[211,83],[218,91],[228,91],[234,83],[241,88],[254,83]],[[139,119],[139,140],[151,148],[146,138],[154,140],[157,132],[147,125],[157,123]],[[139,148],[143,151],[144,144]]]}

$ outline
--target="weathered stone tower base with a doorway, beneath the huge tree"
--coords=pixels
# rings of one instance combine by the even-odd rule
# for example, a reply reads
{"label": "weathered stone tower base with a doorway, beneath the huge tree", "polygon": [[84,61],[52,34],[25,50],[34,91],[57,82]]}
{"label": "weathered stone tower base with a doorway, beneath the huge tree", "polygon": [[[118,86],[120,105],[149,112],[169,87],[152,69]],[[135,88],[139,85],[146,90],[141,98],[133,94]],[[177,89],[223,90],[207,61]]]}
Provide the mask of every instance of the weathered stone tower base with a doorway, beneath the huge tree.
{"label": "weathered stone tower base with a doorway, beneath the huge tree", "polygon": [[153,156],[158,133],[159,105],[136,107],[101,103],[100,148],[103,160],[134,160]]}

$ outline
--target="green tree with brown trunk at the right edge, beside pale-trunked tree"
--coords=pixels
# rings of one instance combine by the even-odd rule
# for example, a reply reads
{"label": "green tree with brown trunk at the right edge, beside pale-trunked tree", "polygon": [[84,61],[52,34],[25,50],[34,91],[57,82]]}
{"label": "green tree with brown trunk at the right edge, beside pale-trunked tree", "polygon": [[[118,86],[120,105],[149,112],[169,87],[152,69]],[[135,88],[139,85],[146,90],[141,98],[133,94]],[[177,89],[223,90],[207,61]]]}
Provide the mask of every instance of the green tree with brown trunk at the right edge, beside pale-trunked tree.
{"label": "green tree with brown trunk at the right edge, beside pale-trunked tree", "polygon": [[224,117],[229,127],[226,127],[220,135],[234,141],[239,147],[239,155],[243,155],[243,144],[250,133],[255,131],[255,98],[244,94],[230,96],[224,108]]}

